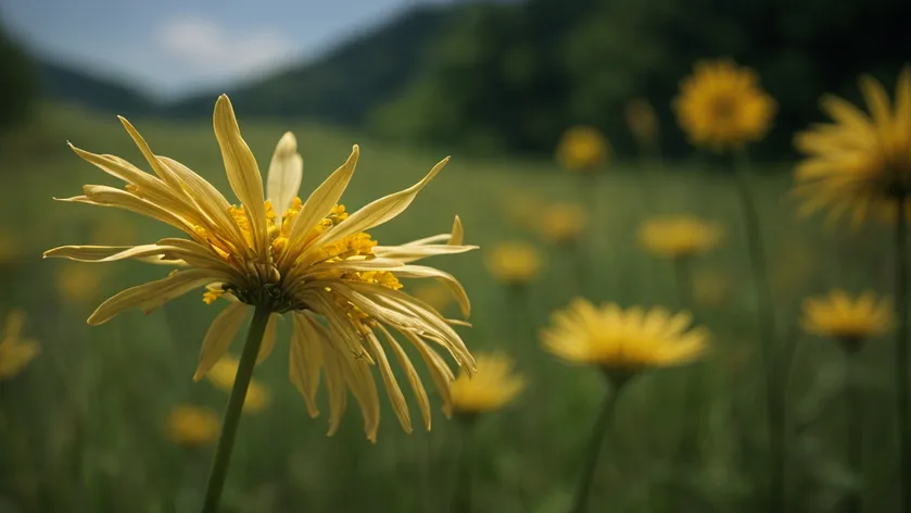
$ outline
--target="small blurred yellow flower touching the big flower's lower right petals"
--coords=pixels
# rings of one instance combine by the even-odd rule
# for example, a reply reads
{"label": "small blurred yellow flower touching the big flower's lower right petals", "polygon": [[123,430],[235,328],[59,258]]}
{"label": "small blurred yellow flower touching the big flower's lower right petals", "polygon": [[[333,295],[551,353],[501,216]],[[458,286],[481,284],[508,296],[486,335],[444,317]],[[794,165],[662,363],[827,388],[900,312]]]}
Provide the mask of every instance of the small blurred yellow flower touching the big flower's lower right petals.
{"label": "small blurred yellow flower touching the big flower's lower right petals", "polygon": [[506,354],[481,353],[477,359],[477,373],[461,373],[452,384],[456,413],[475,415],[497,410],[513,402],[526,388],[524,377],[513,372],[513,360]]}

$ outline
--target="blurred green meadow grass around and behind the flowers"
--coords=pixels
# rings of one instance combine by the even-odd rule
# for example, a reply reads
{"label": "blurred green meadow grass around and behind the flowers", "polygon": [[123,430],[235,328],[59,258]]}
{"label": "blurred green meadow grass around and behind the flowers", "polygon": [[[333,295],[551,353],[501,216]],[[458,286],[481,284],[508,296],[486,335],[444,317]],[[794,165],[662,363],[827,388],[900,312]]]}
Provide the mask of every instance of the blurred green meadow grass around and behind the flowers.
{"label": "blurred green meadow grass around and behind the flowers", "polygon": [[[134,122],[156,152],[229,190],[211,126]],[[444,157],[388,148],[318,126],[244,120],[241,126],[264,167],[282,132],[295,132],[304,154],[302,191],[318,185],[344,161],[351,143],[359,142],[360,164],[343,199],[350,210],[410,185]],[[0,381],[0,510],[9,504],[23,512],[198,511],[213,448],[181,448],[164,436],[163,426],[175,405],[190,402],[220,412],[226,403],[223,392],[190,379],[217,309],[190,293],[149,316],[131,312],[100,327],[86,325],[106,296],[160,277],[162,268],[42,261],[41,251],[86,243],[101,237],[99,233],[105,234],[104,243],[130,243],[168,232],[129,213],[51,201],[78,195],[81,184],[113,184],[73,155],[66,140],[141,161],[113,116],[63,107],[0,147],[0,240],[13,241],[4,242],[12,249],[0,248],[0,254],[10,255],[0,264],[0,312],[25,309],[27,334],[43,345],[43,354],[23,374]],[[783,170],[758,166],[754,184],[781,325],[779,342],[794,355],[785,384],[788,503],[795,512],[828,511],[855,483],[844,463],[846,404],[840,391],[846,367],[830,341],[800,334],[799,301],[832,287],[889,292],[888,234],[876,226],[850,233],[825,229],[818,220],[796,220]],[[551,162],[478,161],[455,154],[405,214],[374,232],[381,242],[402,242],[446,232],[459,214],[466,240],[482,247],[433,263],[458,276],[472,299],[475,327],[463,330],[469,347],[508,351],[531,386],[507,411],[480,420],[472,451],[477,511],[562,513],[569,508],[603,384],[596,372],[567,366],[540,350],[537,329],[575,293],[572,259],[540,243],[510,212],[536,201],[580,200],[577,193],[573,177]],[[713,273],[724,289],[716,301],[695,309],[698,322],[714,335],[711,356],[692,367],[649,374],[624,392],[593,487],[593,511],[762,511],[762,374],[733,184],[722,173],[698,166],[618,165],[599,180],[597,198],[592,235],[582,242],[591,255],[586,278],[594,284],[593,300],[676,304],[672,264],[644,254],[635,242],[638,223],[650,215],[694,213],[720,221],[726,234],[721,249],[694,263],[697,274]],[[484,248],[508,238],[535,241],[547,252],[546,271],[528,298],[497,286],[483,265]],[[74,266],[94,274],[76,274]],[[271,406],[242,420],[225,511],[447,511],[457,472],[458,426],[438,410],[432,431],[416,429],[408,436],[384,404],[376,446],[366,441],[356,408],[350,408],[340,433],[326,438],[326,413],[307,417],[303,400],[288,383],[288,331],[287,325],[279,326],[278,350],[255,371],[254,377],[271,390]],[[240,342],[233,351],[240,351]],[[871,341],[858,358],[868,511],[890,511],[897,499],[891,354],[890,342],[883,339]],[[705,384],[706,417],[698,421],[686,411],[681,387],[692,373],[703,373]],[[694,422],[701,427],[700,456],[683,468],[671,456]]]}

